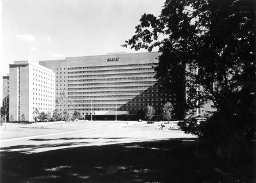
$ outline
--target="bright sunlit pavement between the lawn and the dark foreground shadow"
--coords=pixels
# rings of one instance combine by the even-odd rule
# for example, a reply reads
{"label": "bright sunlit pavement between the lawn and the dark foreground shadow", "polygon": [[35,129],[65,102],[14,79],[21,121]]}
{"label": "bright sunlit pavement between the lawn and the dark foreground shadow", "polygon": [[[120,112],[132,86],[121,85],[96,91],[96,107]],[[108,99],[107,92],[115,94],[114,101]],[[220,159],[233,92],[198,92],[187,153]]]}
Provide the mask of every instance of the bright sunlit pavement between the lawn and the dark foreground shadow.
{"label": "bright sunlit pavement between the lawn and the dark foreground shadow", "polygon": [[81,127],[79,123],[77,125],[80,126],[80,130],[2,140],[1,151],[18,151],[26,154],[78,146],[99,146],[169,138],[194,138],[192,135],[184,134],[179,130],[156,130],[157,124],[146,126],[144,124],[113,122],[90,123],[90,125],[84,123],[86,125],[84,127]]}

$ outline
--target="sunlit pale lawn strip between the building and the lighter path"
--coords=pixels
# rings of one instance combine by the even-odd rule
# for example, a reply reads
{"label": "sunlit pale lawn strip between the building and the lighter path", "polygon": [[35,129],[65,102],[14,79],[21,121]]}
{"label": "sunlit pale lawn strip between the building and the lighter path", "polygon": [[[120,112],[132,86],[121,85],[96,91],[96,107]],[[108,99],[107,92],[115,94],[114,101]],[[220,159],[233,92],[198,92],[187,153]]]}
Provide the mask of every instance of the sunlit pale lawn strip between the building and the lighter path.
{"label": "sunlit pale lawn strip between the building and the lighter path", "polygon": [[[125,122],[125,121],[84,121],[78,122],[62,122],[62,129],[60,129],[60,122],[49,123],[32,123],[32,124],[19,124],[19,123],[7,123],[1,126],[1,139],[32,137],[36,135],[65,133],[68,131],[92,129],[102,126],[134,126],[136,129],[155,130],[164,122],[156,122],[155,124],[146,124],[146,122]],[[176,123],[174,123],[176,124]],[[162,130],[168,130],[169,127],[176,128],[177,125],[165,124],[165,128]],[[176,127],[174,127],[176,126]]]}

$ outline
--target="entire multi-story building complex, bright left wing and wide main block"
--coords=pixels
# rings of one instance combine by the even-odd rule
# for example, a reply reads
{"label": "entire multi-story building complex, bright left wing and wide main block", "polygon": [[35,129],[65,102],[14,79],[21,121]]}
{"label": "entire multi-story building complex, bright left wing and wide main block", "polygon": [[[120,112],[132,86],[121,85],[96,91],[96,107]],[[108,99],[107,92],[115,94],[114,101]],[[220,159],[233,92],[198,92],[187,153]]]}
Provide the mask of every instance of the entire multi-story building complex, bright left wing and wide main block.
{"label": "entire multi-story building complex, bright left wing and wide main block", "polygon": [[[146,106],[160,111],[166,102],[173,104],[176,118],[183,118],[185,75],[181,73],[180,87],[164,91],[153,68],[160,54],[110,53],[39,61],[39,65],[15,61],[9,75],[3,76],[3,99],[9,98],[6,110],[3,101],[1,112],[10,108],[9,116],[14,120],[23,115],[32,121],[35,108],[40,112],[55,110],[56,96],[65,91],[73,101],[69,112],[79,111],[84,119],[133,120]],[[211,111],[211,104],[197,108],[196,115]]]}

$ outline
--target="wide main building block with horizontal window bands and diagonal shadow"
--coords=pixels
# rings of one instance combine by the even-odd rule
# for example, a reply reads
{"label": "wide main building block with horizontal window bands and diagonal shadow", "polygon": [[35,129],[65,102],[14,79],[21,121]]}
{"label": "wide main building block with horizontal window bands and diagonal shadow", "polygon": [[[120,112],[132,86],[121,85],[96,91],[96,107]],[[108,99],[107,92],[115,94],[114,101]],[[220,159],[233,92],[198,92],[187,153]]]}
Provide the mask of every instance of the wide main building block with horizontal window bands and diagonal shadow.
{"label": "wide main building block with horizontal window bands and diagonal shadow", "polygon": [[[146,106],[160,110],[166,102],[174,107],[185,100],[171,91],[167,96],[155,79],[158,52],[112,53],[39,61],[56,73],[56,96],[65,91],[84,119],[135,119]],[[184,88],[185,91],[185,88]]]}

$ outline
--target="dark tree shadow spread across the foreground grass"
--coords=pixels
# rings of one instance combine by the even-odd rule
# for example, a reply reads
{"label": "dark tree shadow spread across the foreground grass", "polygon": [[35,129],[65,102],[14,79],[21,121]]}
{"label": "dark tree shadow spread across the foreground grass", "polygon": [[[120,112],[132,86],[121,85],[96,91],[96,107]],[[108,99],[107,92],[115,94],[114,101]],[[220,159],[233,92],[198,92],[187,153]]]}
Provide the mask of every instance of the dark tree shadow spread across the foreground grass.
{"label": "dark tree shadow spread across the foreground grass", "polygon": [[22,149],[4,151],[0,181],[179,183],[228,180],[228,176],[215,170],[222,168],[222,160],[204,162],[196,158],[197,139],[191,140],[74,147],[25,155]]}

